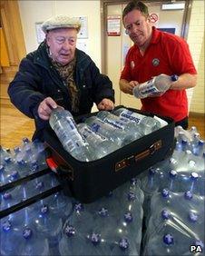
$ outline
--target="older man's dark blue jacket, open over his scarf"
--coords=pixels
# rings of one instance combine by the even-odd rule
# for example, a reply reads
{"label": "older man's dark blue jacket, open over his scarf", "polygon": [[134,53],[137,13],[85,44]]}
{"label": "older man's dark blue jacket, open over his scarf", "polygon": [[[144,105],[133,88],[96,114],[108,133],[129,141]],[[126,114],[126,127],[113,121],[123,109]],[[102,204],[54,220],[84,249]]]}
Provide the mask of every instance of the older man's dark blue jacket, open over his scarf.
{"label": "older man's dark blue jacket, open over his scarf", "polygon": [[[114,91],[111,80],[93,63],[93,60],[82,51],[76,49],[76,68],[74,81],[79,91],[79,113],[91,113],[93,103],[100,103],[103,98],[114,102]],[[34,118],[35,133],[33,139],[44,141],[43,130],[47,121],[42,120],[37,113],[39,104],[50,96],[54,101],[71,111],[71,98],[68,89],[63,84],[54,65],[51,63],[43,42],[33,53],[27,54],[21,61],[19,71],[9,84],[8,94],[11,102],[22,113]]]}

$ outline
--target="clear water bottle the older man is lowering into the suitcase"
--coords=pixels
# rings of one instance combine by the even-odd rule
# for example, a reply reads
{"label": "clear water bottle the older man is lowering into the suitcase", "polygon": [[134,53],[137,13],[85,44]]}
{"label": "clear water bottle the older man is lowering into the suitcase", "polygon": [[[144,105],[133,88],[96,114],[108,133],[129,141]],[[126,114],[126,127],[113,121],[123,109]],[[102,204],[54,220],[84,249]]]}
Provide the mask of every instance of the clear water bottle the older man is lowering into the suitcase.
{"label": "clear water bottle the older man is lowering into the suitcase", "polygon": [[94,153],[90,152],[88,143],[78,132],[73,115],[69,111],[54,109],[49,123],[68,153],[82,162],[93,160]]}

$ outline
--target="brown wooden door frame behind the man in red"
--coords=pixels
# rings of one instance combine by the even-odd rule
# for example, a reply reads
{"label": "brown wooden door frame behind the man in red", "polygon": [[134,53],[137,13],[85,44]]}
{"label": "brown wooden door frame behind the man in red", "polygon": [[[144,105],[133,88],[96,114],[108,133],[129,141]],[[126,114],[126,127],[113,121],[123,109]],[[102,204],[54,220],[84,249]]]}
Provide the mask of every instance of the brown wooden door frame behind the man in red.
{"label": "brown wooden door frame behind the man in red", "polygon": [[[190,26],[190,13],[191,13],[191,6],[193,0],[186,0],[185,1],[185,8],[184,8],[184,15],[181,25],[181,37],[187,40],[189,26]],[[106,74],[106,63],[107,63],[107,44],[106,44],[106,26],[107,26],[107,6],[108,5],[123,5],[128,4],[130,1],[126,0],[101,0],[101,45],[102,45],[102,73]],[[144,0],[143,3],[149,3],[151,0]],[[152,1],[155,3],[165,4],[163,0],[160,1]],[[166,3],[171,3],[172,1],[167,1]],[[176,2],[181,2],[181,0],[176,0]]]}

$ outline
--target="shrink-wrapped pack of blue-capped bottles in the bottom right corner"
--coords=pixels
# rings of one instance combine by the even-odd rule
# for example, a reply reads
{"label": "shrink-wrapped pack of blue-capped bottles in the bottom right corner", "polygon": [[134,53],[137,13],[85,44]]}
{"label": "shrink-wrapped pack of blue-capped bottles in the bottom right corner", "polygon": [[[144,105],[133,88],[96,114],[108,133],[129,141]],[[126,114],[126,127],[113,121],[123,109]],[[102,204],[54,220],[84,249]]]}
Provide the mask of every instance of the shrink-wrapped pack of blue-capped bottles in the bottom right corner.
{"label": "shrink-wrapped pack of blue-capped bottles in the bottom right corner", "polygon": [[191,192],[154,193],[143,255],[199,255],[190,247],[204,250],[204,202]]}

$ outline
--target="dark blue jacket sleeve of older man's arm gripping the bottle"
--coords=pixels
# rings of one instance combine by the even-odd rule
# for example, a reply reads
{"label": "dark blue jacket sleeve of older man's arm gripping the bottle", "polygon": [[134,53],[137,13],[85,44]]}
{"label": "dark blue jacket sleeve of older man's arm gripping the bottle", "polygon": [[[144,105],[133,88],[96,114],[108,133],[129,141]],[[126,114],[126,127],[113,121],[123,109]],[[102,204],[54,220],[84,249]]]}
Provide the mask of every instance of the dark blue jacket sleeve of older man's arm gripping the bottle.
{"label": "dark blue jacket sleeve of older man's arm gripping the bottle", "polygon": [[45,98],[44,94],[40,93],[41,83],[39,67],[32,60],[24,58],[8,87],[11,102],[30,118],[38,118],[38,105]]}

